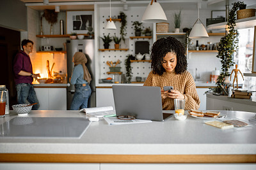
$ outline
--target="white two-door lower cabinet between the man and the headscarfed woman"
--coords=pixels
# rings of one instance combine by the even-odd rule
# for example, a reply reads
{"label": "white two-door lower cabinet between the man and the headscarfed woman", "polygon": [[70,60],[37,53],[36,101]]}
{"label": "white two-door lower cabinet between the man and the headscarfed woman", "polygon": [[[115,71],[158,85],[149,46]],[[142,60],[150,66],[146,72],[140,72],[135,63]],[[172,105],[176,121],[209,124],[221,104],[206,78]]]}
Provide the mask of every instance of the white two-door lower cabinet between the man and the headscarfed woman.
{"label": "white two-door lower cabinet between the man and the headscarfed woman", "polygon": [[35,88],[39,110],[67,110],[66,88]]}

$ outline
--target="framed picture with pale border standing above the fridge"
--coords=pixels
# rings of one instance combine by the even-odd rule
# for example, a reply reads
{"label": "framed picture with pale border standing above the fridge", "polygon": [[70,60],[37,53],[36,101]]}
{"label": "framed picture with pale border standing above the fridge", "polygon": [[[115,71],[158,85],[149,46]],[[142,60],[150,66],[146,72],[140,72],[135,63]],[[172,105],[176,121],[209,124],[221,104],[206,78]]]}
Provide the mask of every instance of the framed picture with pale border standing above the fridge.
{"label": "framed picture with pale border standing above the fridge", "polygon": [[67,11],[67,34],[76,32],[77,34],[86,34],[88,27],[93,28],[94,11]]}

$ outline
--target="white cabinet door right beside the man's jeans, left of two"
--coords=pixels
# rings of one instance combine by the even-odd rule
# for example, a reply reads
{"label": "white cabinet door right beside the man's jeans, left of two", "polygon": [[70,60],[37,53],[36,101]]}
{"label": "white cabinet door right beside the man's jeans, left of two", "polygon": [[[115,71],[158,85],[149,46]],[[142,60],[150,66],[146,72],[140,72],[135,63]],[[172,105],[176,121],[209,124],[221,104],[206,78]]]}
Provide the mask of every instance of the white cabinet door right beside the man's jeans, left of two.
{"label": "white cabinet door right beside the man's jeans, left of two", "polygon": [[40,107],[38,110],[49,110],[48,88],[35,88]]}

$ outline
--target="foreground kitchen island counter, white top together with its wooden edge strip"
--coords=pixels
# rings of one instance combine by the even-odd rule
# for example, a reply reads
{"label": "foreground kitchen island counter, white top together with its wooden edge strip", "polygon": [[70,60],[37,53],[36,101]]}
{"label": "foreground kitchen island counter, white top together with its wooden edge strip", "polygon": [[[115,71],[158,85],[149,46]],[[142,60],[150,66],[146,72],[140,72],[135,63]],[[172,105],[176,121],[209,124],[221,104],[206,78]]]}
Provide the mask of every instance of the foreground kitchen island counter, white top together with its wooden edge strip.
{"label": "foreground kitchen island counter, white top together with its wooden edge strip", "polygon": [[[245,111],[221,113],[242,120],[255,116]],[[181,122],[170,117],[164,122],[130,125],[108,125],[100,118],[80,139],[4,138],[3,123],[15,117],[10,111],[0,118],[0,162],[256,163],[255,122],[250,127],[221,130],[189,115]],[[49,110],[31,111],[27,117],[84,118],[85,114]]]}

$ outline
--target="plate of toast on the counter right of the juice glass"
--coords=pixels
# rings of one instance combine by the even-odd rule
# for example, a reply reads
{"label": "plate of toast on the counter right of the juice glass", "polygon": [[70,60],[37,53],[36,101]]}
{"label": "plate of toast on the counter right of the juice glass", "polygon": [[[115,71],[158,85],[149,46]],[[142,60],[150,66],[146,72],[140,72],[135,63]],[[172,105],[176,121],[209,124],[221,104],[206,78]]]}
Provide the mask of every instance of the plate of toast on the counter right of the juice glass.
{"label": "plate of toast on the counter right of the juice glass", "polygon": [[227,115],[220,113],[220,111],[202,111],[202,110],[189,110],[189,115],[195,118],[212,119],[212,118],[226,118]]}

